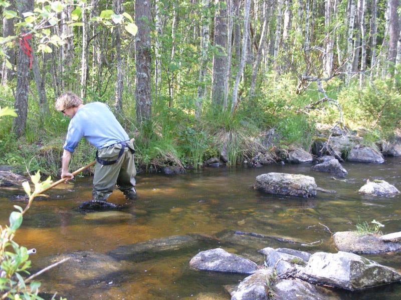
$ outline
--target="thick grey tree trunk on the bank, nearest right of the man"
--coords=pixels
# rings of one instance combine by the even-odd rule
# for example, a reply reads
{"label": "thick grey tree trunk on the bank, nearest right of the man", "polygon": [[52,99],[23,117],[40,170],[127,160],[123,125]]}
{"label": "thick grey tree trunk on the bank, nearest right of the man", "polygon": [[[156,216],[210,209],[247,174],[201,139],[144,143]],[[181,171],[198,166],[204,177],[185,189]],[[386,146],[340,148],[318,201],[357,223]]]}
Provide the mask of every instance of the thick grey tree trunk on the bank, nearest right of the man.
{"label": "thick grey tree trunk on the bank, nearest right of the man", "polygon": [[151,119],[150,98],[150,2],[135,1],[135,23],[138,33],[135,37],[135,98],[136,120],[139,124]]}

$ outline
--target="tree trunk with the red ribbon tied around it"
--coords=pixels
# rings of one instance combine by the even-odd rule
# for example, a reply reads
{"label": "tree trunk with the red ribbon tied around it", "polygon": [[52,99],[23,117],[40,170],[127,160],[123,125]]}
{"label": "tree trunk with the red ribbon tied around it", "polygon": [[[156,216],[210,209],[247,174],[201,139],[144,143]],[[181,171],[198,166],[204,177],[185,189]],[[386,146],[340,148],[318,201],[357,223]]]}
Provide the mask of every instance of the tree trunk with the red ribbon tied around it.
{"label": "tree trunk with the red ribbon tied around it", "polygon": [[[19,15],[23,15],[24,12],[34,10],[34,0],[17,0],[17,9]],[[28,32],[29,28],[21,27],[21,33]],[[30,39],[26,39],[28,44],[31,44]],[[17,61],[17,88],[16,88],[16,100],[14,102],[14,108],[18,116],[14,119],[13,131],[17,137],[20,137],[25,131],[25,125],[27,122],[28,113],[28,90],[29,90],[29,65],[30,59],[24,50],[19,47],[18,61]]]}

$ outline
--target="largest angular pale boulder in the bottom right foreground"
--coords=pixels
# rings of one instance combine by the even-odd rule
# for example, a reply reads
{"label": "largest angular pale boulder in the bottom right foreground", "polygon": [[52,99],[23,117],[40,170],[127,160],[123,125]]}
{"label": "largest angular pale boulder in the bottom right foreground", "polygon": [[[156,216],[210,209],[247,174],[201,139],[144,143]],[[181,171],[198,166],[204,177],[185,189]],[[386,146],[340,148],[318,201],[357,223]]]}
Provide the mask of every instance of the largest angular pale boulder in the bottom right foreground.
{"label": "largest angular pale boulder in the bottom right foreground", "polygon": [[348,290],[401,280],[396,270],[357,254],[316,252],[296,277],[311,283],[328,284]]}

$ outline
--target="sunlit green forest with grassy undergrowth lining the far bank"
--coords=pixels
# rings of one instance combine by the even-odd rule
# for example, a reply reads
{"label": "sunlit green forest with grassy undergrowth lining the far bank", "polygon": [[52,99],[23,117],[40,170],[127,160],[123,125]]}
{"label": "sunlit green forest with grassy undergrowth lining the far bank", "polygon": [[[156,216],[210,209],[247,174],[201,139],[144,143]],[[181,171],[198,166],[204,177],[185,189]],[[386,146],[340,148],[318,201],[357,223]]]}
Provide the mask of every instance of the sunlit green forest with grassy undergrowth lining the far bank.
{"label": "sunlit green forest with grassy undergrowth lining the far bank", "polygon": [[[263,148],[308,150],[322,128],[395,138],[398,0],[2,0],[0,164],[55,176],[73,91],[107,103],[140,168],[236,165]],[[273,153],[274,154],[274,153]],[[273,155],[272,154],[272,155]],[[82,141],[73,168],[94,149]]]}

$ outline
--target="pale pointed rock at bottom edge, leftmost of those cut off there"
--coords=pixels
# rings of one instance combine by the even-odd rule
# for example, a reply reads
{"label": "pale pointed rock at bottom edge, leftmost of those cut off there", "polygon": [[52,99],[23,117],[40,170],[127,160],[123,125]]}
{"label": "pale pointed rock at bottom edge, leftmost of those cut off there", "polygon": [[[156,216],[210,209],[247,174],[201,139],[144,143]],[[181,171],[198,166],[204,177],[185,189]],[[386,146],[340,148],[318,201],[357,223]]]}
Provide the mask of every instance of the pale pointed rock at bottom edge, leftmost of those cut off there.
{"label": "pale pointed rock at bottom edge, leftmost of those cut off there", "polygon": [[268,283],[274,276],[272,267],[259,269],[241,281],[231,292],[231,300],[268,299]]}

